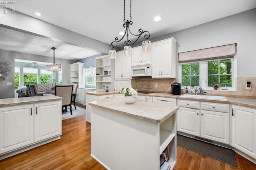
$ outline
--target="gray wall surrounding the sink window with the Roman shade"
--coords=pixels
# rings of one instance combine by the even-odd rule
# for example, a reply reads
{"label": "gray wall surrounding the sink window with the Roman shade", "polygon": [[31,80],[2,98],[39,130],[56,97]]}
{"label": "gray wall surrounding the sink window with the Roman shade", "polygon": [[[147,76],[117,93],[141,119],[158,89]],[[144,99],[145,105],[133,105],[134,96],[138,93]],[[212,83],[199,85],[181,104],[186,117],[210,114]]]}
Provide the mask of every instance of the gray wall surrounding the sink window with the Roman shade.
{"label": "gray wall surrounding the sink window with the Roman shade", "polygon": [[[178,53],[181,52],[237,43],[237,76],[256,76],[256,8],[150,41],[155,42],[170,37],[177,40],[176,61],[178,61]],[[139,45],[141,44],[136,44]],[[176,74],[178,76],[178,70]]]}

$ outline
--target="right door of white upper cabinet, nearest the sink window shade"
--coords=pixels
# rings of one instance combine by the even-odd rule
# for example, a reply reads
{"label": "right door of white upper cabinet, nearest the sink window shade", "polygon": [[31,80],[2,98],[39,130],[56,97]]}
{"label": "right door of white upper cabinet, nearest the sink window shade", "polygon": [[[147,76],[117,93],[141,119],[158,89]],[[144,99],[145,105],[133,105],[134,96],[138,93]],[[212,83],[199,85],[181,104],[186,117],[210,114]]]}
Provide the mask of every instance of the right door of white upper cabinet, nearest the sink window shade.
{"label": "right door of white upper cabinet, nearest the sink window shade", "polygon": [[[175,56],[174,56],[175,57]],[[172,41],[170,39],[161,42],[161,77],[172,77]]]}

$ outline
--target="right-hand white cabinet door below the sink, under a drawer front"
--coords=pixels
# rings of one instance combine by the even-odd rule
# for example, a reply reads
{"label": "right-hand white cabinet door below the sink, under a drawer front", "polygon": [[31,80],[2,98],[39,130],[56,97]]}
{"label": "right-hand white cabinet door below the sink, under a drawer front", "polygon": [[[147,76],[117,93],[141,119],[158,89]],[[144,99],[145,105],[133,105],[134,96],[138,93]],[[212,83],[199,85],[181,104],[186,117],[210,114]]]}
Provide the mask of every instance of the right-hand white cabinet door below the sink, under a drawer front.
{"label": "right-hand white cabinet door below the sink, under a drawer front", "polygon": [[230,144],[229,113],[201,110],[200,114],[200,136]]}

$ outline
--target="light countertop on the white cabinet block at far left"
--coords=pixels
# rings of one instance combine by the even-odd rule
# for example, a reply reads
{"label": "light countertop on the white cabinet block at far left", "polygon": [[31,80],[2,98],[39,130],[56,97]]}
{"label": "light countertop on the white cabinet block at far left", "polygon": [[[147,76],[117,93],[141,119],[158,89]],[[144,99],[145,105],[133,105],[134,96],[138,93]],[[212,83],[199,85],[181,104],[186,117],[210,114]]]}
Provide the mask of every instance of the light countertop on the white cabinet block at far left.
{"label": "light countertop on the white cabinet block at far left", "polygon": [[7,98],[7,99],[0,99],[0,107],[34,104],[38,102],[50,102],[50,101],[56,101],[56,100],[62,100],[62,97],[55,96],[55,95],[47,95],[47,96],[33,96],[33,97],[24,97],[24,98]]}

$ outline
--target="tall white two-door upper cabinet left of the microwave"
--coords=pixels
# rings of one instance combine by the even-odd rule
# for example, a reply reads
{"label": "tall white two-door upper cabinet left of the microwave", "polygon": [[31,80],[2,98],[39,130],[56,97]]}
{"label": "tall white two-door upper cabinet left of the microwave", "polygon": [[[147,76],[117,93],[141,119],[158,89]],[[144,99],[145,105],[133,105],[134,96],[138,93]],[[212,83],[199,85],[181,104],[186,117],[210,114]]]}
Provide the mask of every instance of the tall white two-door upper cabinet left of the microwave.
{"label": "tall white two-door upper cabinet left of the microwave", "polygon": [[124,51],[118,51],[116,53],[116,59],[114,61],[115,79],[131,78],[131,57],[124,56]]}

